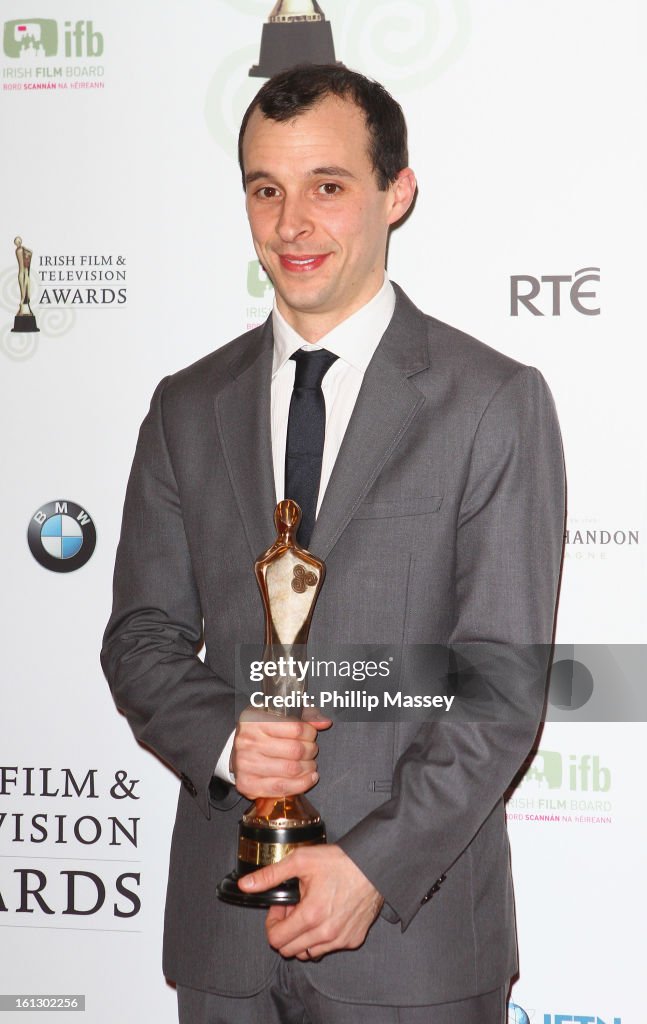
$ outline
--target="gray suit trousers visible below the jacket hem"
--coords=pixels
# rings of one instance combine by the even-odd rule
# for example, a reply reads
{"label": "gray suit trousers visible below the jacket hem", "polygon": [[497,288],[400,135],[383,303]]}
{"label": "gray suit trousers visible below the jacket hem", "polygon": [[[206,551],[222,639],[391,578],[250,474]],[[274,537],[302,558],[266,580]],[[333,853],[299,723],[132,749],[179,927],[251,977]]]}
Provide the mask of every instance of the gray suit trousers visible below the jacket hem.
{"label": "gray suit trousers visible below the jacket hem", "polygon": [[509,985],[455,1002],[385,1007],[331,999],[310,981],[312,969],[282,961],[269,985],[231,998],[177,986],[179,1024],[505,1024]]}

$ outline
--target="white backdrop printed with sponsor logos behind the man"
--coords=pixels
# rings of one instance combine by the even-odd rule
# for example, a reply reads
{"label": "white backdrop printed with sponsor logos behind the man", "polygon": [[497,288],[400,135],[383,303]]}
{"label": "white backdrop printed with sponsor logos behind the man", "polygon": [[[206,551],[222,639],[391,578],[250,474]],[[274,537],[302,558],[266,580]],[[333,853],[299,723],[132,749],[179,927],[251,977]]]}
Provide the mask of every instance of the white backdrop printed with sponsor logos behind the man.
{"label": "white backdrop printed with sponsor logos behind the man", "polygon": [[[558,640],[639,644],[644,5],[322,6],[338,59],[407,117],[420,196],[391,276],[553,389],[569,482]],[[177,782],[132,739],[97,652],[149,395],[271,304],[234,155],[270,7],[3,4],[0,993],[85,993],[93,1024],[175,1019],[160,961]],[[39,334],[11,332],[16,234],[34,252]],[[518,276],[537,294],[513,315]],[[96,527],[78,571],[49,571],[28,546],[56,501]],[[511,799],[519,1024],[643,1019],[644,743],[639,723],[549,723]]]}

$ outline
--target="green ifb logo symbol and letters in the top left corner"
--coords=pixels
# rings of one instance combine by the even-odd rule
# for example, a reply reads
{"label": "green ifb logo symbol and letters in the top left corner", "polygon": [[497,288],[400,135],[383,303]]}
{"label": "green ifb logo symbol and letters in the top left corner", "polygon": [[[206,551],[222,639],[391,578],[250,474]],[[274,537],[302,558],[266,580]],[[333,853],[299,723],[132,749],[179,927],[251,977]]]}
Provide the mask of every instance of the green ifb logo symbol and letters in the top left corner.
{"label": "green ifb logo symbol and letters in the top left corner", "polygon": [[[94,32],[92,22],[63,23],[63,50],[67,57],[100,57],[103,36]],[[4,23],[4,52],[18,60],[55,56],[58,26],[49,17],[30,17]]]}

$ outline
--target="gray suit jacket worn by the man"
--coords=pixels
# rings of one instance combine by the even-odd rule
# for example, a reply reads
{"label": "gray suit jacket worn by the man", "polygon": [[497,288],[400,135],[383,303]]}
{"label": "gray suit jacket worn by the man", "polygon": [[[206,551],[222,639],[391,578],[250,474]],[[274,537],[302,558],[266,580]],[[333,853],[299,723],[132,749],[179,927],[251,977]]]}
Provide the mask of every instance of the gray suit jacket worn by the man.
{"label": "gray suit jacket worn by the man", "polygon": [[[310,543],[328,567],[310,639],[550,644],[564,473],[549,389],[533,368],[396,291]],[[268,321],[158,387],[128,485],[102,652],[135,735],[184,783],[165,973],[229,995],[258,991],[277,963],[264,914],[216,897],[246,805],[212,783],[234,725],[235,645],[262,633],[252,565],[273,540],[271,364]],[[514,725],[355,722],[320,736],[313,799],[329,840],[387,904],[361,949],[306,966],[321,992],[433,1004],[514,973],[502,795],[531,746],[544,693],[523,672],[512,686],[511,700],[529,709]]]}

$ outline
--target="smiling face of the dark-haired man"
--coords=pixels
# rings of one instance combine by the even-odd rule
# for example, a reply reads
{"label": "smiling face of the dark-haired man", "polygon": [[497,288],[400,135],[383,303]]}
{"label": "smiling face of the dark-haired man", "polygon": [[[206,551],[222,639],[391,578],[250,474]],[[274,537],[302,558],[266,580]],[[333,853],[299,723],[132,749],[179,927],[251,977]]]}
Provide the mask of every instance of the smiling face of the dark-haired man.
{"label": "smiling face of the dark-haired man", "polygon": [[282,313],[315,341],[380,289],[411,198],[402,209],[397,182],[378,188],[363,112],[333,96],[287,122],[255,110],[243,159],[254,248]]}

